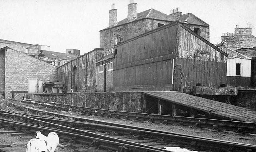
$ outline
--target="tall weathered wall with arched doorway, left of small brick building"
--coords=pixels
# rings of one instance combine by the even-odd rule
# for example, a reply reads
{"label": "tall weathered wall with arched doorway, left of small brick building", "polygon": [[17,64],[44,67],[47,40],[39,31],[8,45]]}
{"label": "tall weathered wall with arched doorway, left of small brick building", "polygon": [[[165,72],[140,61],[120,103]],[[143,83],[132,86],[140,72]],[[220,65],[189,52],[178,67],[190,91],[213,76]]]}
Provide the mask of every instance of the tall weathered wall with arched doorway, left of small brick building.
{"label": "tall weathered wall with arched doorway, left of small brick building", "polygon": [[96,91],[96,62],[103,49],[94,49],[58,68],[58,81],[64,82],[64,91]]}

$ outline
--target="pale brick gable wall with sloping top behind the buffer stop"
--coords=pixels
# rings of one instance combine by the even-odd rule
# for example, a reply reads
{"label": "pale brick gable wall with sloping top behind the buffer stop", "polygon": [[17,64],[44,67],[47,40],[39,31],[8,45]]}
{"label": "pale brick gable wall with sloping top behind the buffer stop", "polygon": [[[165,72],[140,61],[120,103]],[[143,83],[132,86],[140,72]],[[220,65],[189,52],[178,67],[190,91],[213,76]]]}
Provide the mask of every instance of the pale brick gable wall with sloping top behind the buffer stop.
{"label": "pale brick gable wall with sloping top behind the buffer stop", "polygon": [[[57,80],[56,66],[10,48],[6,51],[5,65],[6,98],[12,97],[10,93],[12,90],[28,90],[29,79],[44,82]],[[20,99],[22,96],[15,98]]]}

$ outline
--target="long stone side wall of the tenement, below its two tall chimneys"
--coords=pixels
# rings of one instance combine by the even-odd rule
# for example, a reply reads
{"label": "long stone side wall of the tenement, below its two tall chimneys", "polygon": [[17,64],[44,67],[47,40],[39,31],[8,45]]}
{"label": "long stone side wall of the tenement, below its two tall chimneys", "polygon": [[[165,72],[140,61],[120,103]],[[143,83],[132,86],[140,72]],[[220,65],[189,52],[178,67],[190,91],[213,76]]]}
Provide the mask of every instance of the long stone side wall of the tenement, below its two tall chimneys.
{"label": "long stone side wall of the tenement, below its two tall chimneys", "polygon": [[158,28],[158,23],[169,24],[170,22],[153,20],[152,24],[151,19],[143,19],[102,30],[100,31],[100,48],[110,49],[115,45],[118,29],[121,29],[122,41],[125,41],[148,32],[149,30]]}

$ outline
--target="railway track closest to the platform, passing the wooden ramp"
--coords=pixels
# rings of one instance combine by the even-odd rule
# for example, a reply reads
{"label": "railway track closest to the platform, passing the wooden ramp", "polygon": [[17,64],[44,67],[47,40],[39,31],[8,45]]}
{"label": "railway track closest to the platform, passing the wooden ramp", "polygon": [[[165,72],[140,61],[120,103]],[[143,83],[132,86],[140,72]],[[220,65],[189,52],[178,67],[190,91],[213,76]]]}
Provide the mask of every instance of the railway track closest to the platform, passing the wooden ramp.
{"label": "railway track closest to the platform, passing the wooden ramp", "polygon": [[[49,103],[42,101],[21,101],[26,104],[33,104],[44,107],[46,109],[55,109],[61,111],[72,111],[80,112],[86,115],[102,116],[108,118],[123,118],[123,119],[134,119],[150,122],[160,122],[165,124],[177,124],[183,126],[192,126],[198,128],[210,128],[214,131],[226,130],[233,131],[237,134],[252,133],[256,134],[256,123],[253,122],[241,122],[241,121],[230,121],[230,120],[216,120],[206,118],[191,118],[182,116],[168,116],[158,114],[146,114],[146,113],[131,113],[125,111],[110,111],[104,109],[87,108],[73,105],[64,105],[59,103]],[[47,105],[43,104],[47,103]]]}

